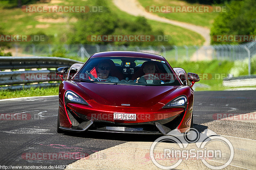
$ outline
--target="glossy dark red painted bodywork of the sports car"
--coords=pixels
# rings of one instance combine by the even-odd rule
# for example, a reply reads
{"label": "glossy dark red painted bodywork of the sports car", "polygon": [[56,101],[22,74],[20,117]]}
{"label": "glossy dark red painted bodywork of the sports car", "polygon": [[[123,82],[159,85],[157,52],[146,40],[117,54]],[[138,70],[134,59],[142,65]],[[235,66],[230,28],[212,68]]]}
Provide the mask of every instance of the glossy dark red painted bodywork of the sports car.
{"label": "glossy dark red painted bodywork of the sports car", "polygon": [[[101,52],[92,55],[91,58],[104,56],[144,57],[168,63],[160,55],[127,51]],[[76,92],[89,105],[76,103],[67,103],[65,105],[64,94],[67,90]],[[165,104],[181,95],[185,95],[188,99],[187,108],[162,108]],[[65,128],[72,126],[66,107],[88,117],[95,116],[97,119],[125,124],[158,121],[185,111],[178,126],[180,132],[185,132],[190,128],[193,100],[193,89],[182,83],[179,86],[135,86],[76,82],[72,79],[64,80],[59,87],[60,126]],[[130,106],[121,106],[121,104],[130,104]],[[113,117],[108,115],[113,115],[114,113],[136,113],[137,119],[136,121],[113,120]]]}

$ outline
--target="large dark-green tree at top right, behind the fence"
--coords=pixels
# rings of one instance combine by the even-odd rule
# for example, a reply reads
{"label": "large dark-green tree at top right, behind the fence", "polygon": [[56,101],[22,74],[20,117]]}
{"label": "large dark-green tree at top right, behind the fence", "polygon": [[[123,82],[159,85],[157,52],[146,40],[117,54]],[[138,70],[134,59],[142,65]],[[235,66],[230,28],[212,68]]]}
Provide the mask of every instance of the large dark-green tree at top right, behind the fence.
{"label": "large dark-green tree at top right, behind the fence", "polygon": [[[227,12],[222,12],[212,24],[214,35],[253,35],[256,33],[256,3],[254,0],[231,1],[226,4]],[[211,44],[238,44],[243,42],[216,42]]]}

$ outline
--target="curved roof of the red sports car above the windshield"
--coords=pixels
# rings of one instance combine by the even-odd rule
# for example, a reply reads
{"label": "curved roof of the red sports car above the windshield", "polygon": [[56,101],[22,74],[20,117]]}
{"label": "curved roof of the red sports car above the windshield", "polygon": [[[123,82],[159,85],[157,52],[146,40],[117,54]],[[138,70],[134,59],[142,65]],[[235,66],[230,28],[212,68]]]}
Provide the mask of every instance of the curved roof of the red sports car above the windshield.
{"label": "curved roof of the red sports car above the windshield", "polygon": [[91,56],[91,58],[108,57],[108,56],[141,57],[141,58],[151,58],[151,59],[166,61],[162,55],[146,53],[146,52],[138,52],[138,51],[104,51],[104,52],[94,53]]}

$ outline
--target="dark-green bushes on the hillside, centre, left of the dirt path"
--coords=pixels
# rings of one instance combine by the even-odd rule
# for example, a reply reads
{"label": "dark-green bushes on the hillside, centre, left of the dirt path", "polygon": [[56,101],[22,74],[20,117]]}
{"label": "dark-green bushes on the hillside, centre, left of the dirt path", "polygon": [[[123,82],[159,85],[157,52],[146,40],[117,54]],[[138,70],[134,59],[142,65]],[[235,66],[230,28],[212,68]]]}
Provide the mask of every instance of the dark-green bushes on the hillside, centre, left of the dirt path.
{"label": "dark-green bushes on the hillside, centre, left of the dirt path", "polygon": [[[89,0],[88,0],[89,1]],[[162,30],[152,31],[147,19],[137,17],[135,21],[122,20],[113,13],[108,4],[103,0],[92,1],[95,6],[104,6],[104,12],[77,13],[78,18],[72,33],[69,33],[69,44],[114,44],[114,45],[153,45],[155,42],[92,42],[87,37],[90,35],[164,35]],[[159,45],[171,45],[161,41]]]}

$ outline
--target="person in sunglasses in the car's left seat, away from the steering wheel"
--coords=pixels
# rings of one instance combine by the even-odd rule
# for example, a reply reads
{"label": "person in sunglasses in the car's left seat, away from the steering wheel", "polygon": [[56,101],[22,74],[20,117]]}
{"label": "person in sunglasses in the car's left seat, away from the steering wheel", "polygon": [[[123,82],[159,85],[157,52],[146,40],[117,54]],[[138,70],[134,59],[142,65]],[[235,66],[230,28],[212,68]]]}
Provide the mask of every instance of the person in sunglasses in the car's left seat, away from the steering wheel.
{"label": "person in sunglasses in the car's left seat, away from the steering wheel", "polygon": [[110,82],[119,82],[117,77],[109,76],[110,72],[110,63],[108,61],[100,62],[98,65],[99,77],[96,79],[98,81],[110,81]]}

